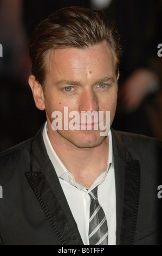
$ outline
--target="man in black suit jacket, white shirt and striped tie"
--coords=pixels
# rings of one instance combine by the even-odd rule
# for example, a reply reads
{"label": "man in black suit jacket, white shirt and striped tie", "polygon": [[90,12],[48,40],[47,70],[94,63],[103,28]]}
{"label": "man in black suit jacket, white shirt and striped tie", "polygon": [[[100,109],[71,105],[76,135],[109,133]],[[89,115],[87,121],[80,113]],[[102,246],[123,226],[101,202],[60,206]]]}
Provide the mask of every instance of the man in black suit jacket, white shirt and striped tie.
{"label": "man in black suit jacket, white shirt and striped tie", "polygon": [[101,136],[115,115],[119,50],[100,10],[64,8],[35,29],[29,84],[47,123],[1,154],[2,244],[160,244],[161,143]]}

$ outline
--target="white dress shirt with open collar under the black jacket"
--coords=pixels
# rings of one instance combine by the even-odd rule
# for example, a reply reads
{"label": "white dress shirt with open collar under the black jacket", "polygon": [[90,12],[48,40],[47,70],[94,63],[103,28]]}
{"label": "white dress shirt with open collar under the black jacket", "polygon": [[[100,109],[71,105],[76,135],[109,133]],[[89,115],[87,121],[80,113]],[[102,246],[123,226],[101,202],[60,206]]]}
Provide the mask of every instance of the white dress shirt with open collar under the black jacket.
{"label": "white dress shirt with open collar under the black jacket", "polygon": [[48,138],[47,122],[43,129],[43,140],[47,149],[47,154],[55,168],[56,174],[66,196],[69,208],[72,211],[77,228],[84,245],[89,245],[89,192],[98,186],[98,200],[105,212],[108,224],[108,245],[116,243],[116,195],[115,195],[115,175],[113,163],[112,134],[109,132],[109,153],[107,168],[96,178],[92,186],[88,189],[75,181],[74,176],[67,170],[64,164],[56,155]]}

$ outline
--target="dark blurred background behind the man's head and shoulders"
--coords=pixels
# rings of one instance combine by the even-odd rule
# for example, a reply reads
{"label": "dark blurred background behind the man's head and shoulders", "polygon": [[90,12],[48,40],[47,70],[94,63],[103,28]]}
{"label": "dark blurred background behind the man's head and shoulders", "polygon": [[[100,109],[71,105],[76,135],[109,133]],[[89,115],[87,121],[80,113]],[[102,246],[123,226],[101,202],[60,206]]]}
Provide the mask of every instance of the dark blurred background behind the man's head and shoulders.
{"label": "dark blurred background behind the man's head and shoulders", "polygon": [[[99,8],[121,35],[119,100],[113,128],[162,139],[161,0],[0,0],[0,151],[33,137],[46,120],[35,107],[28,41],[35,27],[70,5]],[[162,52],[162,51],[161,51]]]}

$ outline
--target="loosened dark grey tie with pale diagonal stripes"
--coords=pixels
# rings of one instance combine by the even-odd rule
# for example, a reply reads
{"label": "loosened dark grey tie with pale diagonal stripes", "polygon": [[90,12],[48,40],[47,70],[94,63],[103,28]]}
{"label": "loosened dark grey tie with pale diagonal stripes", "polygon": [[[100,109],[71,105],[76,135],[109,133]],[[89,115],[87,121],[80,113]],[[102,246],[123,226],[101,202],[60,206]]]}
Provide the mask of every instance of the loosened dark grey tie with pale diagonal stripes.
{"label": "loosened dark grey tie with pale diagonal stripes", "polygon": [[89,192],[89,245],[108,245],[108,228],[105,213],[98,201],[98,187]]}

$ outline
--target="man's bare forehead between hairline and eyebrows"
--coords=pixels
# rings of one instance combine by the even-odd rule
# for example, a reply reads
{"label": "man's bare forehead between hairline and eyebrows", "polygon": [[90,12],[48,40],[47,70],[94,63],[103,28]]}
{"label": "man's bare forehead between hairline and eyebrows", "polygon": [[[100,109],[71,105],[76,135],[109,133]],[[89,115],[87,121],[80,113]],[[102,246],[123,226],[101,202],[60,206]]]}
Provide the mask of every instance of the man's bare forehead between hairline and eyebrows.
{"label": "man's bare forehead between hairline and eyebrows", "polygon": [[106,41],[85,49],[70,47],[49,52],[47,76],[59,79],[89,74],[99,76],[102,72],[115,74],[114,57]]}

